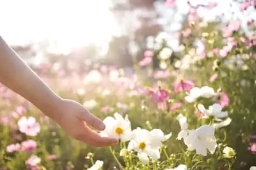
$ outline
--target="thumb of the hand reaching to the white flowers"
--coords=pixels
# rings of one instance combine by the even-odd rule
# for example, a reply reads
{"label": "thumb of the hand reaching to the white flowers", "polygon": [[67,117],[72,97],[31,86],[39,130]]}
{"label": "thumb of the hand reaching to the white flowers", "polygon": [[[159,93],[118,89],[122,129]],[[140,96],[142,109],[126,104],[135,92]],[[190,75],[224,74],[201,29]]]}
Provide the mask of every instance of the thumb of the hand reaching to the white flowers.
{"label": "thumb of the hand reaching to the white flowers", "polygon": [[106,127],[105,124],[101,121],[101,119],[95,117],[95,115],[91,114],[90,111],[86,109],[79,113],[78,117],[79,119],[85,121],[87,124],[89,124],[97,130],[104,130]]}

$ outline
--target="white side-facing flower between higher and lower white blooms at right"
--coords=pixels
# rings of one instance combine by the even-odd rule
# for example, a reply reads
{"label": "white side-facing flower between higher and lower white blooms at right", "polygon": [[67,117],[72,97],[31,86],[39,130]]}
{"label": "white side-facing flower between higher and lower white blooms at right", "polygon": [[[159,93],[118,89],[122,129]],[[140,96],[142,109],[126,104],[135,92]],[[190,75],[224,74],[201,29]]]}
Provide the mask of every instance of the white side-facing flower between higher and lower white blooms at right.
{"label": "white side-facing flower between higher and lower white blooms at right", "polygon": [[212,106],[209,106],[208,109],[205,109],[204,105],[199,104],[197,108],[204,113],[204,117],[208,118],[210,116],[214,116],[215,118],[224,118],[227,117],[228,112],[222,111],[222,107],[219,103],[215,103]]}

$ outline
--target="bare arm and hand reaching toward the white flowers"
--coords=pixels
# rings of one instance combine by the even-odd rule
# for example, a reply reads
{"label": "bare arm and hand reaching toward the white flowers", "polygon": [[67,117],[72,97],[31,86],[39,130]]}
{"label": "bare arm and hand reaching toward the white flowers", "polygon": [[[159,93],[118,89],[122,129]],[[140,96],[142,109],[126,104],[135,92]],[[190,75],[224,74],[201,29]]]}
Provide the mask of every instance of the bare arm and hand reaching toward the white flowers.
{"label": "bare arm and hand reaching toward the white flowers", "polygon": [[71,137],[93,146],[116,145],[90,129],[104,130],[104,123],[75,101],[60,98],[22,61],[0,36],[0,82],[33,103]]}

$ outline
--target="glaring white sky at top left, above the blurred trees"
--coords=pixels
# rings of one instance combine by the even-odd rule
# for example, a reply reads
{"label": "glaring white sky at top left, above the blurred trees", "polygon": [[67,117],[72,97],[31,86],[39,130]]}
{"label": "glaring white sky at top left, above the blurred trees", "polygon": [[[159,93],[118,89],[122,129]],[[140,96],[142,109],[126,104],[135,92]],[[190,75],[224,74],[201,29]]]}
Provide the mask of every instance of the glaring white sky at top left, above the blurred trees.
{"label": "glaring white sky at top left, above the blurred trees", "polygon": [[109,41],[119,30],[109,0],[0,0],[0,34],[10,44],[50,38],[67,47]]}

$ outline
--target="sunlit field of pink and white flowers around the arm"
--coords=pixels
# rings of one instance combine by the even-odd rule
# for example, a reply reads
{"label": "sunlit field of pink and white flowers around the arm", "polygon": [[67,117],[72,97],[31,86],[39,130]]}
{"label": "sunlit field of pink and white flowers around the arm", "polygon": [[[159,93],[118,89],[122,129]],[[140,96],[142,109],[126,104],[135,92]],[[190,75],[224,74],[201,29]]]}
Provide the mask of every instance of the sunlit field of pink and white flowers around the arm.
{"label": "sunlit field of pink and white flowers around the arm", "polygon": [[179,33],[179,52],[159,33],[157,48],[129,70],[35,68],[58,95],[104,120],[98,133],[117,146],[74,140],[1,84],[0,169],[256,169],[256,36],[240,21],[200,25]]}

